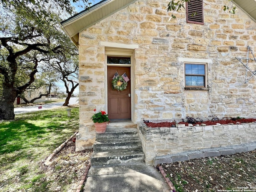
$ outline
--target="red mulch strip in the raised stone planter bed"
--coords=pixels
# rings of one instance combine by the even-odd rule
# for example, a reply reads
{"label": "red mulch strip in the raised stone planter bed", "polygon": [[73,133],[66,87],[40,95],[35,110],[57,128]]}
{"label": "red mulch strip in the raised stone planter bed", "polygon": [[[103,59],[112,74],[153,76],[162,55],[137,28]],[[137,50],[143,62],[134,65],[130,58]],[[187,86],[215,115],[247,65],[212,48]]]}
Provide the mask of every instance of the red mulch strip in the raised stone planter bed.
{"label": "red mulch strip in the raised stone planter bed", "polygon": [[[256,122],[256,119],[249,118],[249,119],[237,119],[237,120],[216,120],[216,121],[204,121],[204,122],[197,122],[196,124],[206,124],[206,125],[216,125],[216,123],[225,125],[225,124],[241,124],[241,123],[251,123]],[[175,122],[160,122],[160,123],[153,123],[153,122],[144,122],[148,127],[172,127],[175,126]],[[179,124],[185,124],[188,126],[188,122],[179,122]]]}

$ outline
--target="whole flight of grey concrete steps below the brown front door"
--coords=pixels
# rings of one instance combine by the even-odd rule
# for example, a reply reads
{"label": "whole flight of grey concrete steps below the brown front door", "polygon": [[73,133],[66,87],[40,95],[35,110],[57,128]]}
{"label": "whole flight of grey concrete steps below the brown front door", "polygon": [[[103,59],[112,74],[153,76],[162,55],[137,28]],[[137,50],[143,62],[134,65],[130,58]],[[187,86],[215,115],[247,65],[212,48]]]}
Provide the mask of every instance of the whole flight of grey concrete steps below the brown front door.
{"label": "whole flight of grey concrete steps below the brown front door", "polygon": [[96,134],[92,166],[144,162],[144,159],[136,124],[110,122],[105,133]]}

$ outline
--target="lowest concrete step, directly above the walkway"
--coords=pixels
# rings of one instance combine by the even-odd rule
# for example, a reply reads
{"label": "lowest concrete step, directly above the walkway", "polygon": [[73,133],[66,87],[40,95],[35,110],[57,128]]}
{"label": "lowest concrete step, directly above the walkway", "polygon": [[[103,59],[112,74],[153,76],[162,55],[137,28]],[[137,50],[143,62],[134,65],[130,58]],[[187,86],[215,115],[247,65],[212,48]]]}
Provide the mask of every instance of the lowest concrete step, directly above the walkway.
{"label": "lowest concrete step, directly above the walkway", "polygon": [[141,149],[136,150],[113,150],[105,152],[94,151],[91,156],[92,166],[103,166],[108,164],[123,164],[131,162],[144,162],[145,155]]}

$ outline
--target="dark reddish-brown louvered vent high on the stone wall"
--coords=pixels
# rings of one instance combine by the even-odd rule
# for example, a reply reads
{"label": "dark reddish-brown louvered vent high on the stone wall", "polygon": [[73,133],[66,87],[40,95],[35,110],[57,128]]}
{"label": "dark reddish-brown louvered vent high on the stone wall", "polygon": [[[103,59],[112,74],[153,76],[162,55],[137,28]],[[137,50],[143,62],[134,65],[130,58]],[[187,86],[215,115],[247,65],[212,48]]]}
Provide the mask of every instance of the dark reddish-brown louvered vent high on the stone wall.
{"label": "dark reddish-brown louvered vent high on the stone wall", "polygon": [[204,24],[203,0],[190,0],[187,2],[187,22]]}

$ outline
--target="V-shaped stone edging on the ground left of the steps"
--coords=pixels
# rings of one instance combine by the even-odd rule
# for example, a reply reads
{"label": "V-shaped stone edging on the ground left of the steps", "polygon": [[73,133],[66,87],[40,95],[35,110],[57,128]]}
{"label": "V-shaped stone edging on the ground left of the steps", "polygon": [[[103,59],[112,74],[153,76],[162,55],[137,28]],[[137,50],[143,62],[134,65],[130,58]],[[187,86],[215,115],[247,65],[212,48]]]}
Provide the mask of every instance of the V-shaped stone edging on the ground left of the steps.
{"label": "V-shaped stone edging on the ground left of the steps", "polygon": [[70,138],[68,138],[66,141],[64,141],[60,146],[58,146],[58,148],[56,148],[53,152],[52,152],[52,154],[50,154],[50,156],[45,160],[45,162],[44,162],[44,166],[46,166],[46,167],[48,167],[48,166],[55,166],[57,163],[58,164],[62,164],[62,165],[64,165],[64,164],[74,164],[74,163],[76,163],[76,162],[70,162],[70,161],[64,161],[64,160],[60,160],[59,162],[56,162],[55,160],[54,161],[50,161],[58,152],[60,152],[60,150],[62,150],[62,148],[65,146],[65,144],[67,144],[68,143],[68,141],[70,140],[70,139],[72,139],[74,136],[76,136],[76,134],[77,134],[78,132],[75,132],[72,136],[70,136]]}

